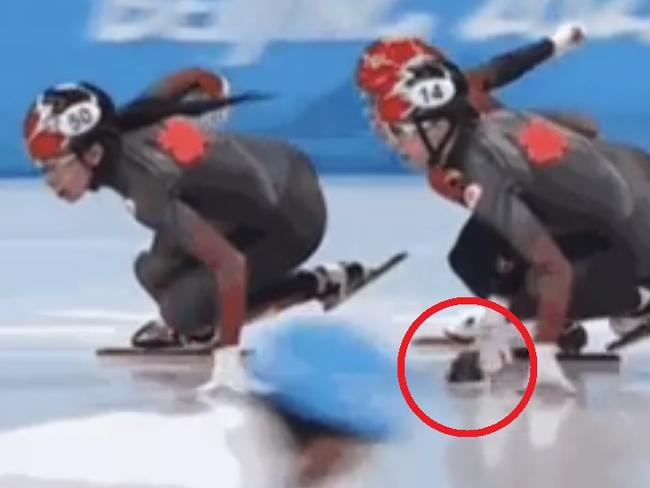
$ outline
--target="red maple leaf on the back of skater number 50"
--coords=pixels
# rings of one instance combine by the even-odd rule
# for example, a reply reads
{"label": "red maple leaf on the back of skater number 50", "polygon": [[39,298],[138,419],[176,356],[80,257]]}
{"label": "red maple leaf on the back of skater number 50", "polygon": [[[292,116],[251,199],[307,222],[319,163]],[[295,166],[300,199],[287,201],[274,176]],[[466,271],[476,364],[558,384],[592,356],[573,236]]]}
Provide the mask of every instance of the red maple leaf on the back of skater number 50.
{"label": "red maple leaf on the back of skater number 50", "polygon": [[171,119],[158,135],[158,144],[181,166],[193,166],[205,155],[208,140],[199,127],[188,120]]}

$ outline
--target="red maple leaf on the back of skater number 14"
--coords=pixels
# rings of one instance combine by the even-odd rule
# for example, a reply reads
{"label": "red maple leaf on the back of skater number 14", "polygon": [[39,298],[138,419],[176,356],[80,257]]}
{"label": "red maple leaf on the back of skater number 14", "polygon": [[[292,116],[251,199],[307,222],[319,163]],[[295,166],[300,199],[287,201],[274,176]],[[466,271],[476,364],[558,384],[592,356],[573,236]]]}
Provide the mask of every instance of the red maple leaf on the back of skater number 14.
{"label": "red maple leaf on the back of skater number 14", "polygon": [[535,120],[519,133],[519,144],[537,166],[550,166],[566,154],[567,138],[552,125]]}

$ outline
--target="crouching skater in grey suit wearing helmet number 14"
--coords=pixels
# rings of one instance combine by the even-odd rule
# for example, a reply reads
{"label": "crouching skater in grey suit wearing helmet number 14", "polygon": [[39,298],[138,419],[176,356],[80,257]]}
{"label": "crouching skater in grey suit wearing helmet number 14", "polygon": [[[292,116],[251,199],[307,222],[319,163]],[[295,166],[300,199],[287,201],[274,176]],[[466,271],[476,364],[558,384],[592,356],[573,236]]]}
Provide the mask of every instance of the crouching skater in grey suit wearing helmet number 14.
{"label": "crouching skater in grey suit wearing helmet number 14", "polygon": [[[439,178],[441,169],[445,178],[453,176],[453,198],[525,261],[538,324],[538,381],[571,391],[555,358],[567,319],[632,312],[636,285],[650,277],[647,157],[533,113],[479,116],[466,77],[448,60],[423,59],[402,70],[396,88],[401,110],[387,112],[391,124],[408,128],[396,149],[430,177]],[[588,305],[598,300],[590,297],[578,307],[574,290],[590,274],[577,273],[558,244],[559,236],[576,234],[602,236],[611,252],[633,263],[628,281],[635,286],[621,293],[620,302],[595,310]],[[501,298],[508,305],[513,297]],[[513,311],[526,313],[523,306]],[[502,317],[489,315],[479,348],[484,371],[494,373],[505,352],[495,337],[506,329]]]}

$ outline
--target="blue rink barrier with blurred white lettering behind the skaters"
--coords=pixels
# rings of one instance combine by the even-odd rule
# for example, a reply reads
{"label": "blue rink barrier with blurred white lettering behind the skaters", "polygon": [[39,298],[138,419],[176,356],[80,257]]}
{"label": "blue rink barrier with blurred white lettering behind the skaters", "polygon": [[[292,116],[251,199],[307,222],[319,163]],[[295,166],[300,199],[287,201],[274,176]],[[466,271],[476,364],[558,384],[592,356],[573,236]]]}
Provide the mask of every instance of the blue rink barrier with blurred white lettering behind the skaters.
{"label": "blue rink barrier with blurred white lettering behind the skaters", "polygon": [[235,91],[276,95],[271,102],[238,108],[229,129],[289,139],[309,152],[323,173],[401,172],[397,158],[370,132],[353,83],[359,53],[371,39],[384,32],[415,33],[471,67],[552,32],[562,18],[583,20],[591,27],[590,42],[504,90],[504,100],[517,107],[581,110],[600,122],[605,135],[645,146],[650,2],[555,0],[545,10],[535,5],[521,0],[3,2],[0,176],[34,173],[23,152],[21,124],[32,97],[45,86],[86,79],[124,102],[169,71],[197,65],[225,73]]}

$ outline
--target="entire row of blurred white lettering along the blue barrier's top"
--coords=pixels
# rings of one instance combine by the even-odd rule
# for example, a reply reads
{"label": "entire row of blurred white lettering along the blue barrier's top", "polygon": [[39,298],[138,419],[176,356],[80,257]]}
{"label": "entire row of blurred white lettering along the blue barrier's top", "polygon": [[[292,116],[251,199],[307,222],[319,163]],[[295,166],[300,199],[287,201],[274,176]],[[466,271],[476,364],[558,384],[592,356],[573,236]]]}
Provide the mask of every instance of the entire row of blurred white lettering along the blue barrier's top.
{"label": "entire row of blurred white lettering along the blue barrier's top", "polygon": [[[633,35],[650,41],[645,0],[482,0],[469,14],[402,0],[94,0],[91,38],[100,42],[171,40],[226,43],[222,62],[248,64],[273,41],[363,41],[380,35],[431,37],[437,19],[465,41],[539,37],[578,19],[591,38]],[[413,5],[420,6],[416,10]],[[452,12],[453,11],[453,12]],[[454,18],[452,18],[454,17]]]}

